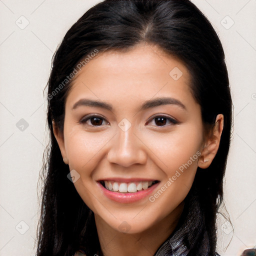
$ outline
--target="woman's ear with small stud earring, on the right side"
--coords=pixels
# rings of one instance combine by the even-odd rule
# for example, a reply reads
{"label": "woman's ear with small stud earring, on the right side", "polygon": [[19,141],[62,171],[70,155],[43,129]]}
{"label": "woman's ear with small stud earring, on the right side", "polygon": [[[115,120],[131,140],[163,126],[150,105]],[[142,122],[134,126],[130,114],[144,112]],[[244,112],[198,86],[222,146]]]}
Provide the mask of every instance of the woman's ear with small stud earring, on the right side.
{"label": "woman's ear with small stud earring, on the right side", "polygon": [[218,114],[216,116],[213,130],[211,134],[206,138],[206,141],[204,143],[204,147],[198,160],[198,167],[205,169],[211,164],[218,150],[223,125],[224,116],[223,114]]}

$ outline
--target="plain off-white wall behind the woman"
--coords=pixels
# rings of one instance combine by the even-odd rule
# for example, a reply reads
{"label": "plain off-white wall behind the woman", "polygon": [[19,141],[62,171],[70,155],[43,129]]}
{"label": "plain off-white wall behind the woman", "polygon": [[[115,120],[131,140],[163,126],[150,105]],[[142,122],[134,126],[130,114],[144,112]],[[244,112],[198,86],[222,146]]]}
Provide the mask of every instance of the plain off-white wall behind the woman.
{"label": "plain off-white wall behind the woman", "polygon": [[[256,0],[192,1],[213,23],[226,54],[234,129],[225,202],[234,233],[223,252],[232,232],[220,219],[218,251],[239,255],[256,246]],[[46,144],[42,89],[65,32],[97,2],[0,0],[0,256],[34,255],[36,185]]]}

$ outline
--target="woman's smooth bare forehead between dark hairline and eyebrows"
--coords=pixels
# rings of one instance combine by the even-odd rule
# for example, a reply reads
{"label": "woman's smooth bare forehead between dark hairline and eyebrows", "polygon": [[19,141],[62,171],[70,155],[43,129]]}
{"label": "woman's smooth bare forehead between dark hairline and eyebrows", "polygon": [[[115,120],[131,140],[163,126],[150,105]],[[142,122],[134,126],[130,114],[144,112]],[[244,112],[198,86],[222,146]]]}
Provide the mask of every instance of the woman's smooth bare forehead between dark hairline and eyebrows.
{"label": "woman's smooth bare forehead between dark hairline and eyebrows", "polygon": [[81,93],[109,100],[166,94],[191,99],[189,84],[190,74],[179,59],[156,45],[138,44],[125,52],[111,50],[93,57],[74,77],[67,103]]}

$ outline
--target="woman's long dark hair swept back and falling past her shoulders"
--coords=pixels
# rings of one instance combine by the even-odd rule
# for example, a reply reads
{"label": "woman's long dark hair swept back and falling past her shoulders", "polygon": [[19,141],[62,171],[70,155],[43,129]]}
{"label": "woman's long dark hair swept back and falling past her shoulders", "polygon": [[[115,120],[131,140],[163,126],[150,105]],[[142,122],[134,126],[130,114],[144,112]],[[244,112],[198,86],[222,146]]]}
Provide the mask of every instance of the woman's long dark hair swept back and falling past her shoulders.
{"label": "woman's long dark hair swept back and falling past her shoulders", "polygon": [[[207,169],[197,168],[189,192],[198,198],[210,239],[209,250],[212,254],[215,251],[216,214],[222,203],[232,125],[232,102],[221,42],[207,18],[189,0],[104,0],[71,26],[52,58],[45,87],[50,141],[40,175],[42,204],[37,256],[72,255],[81,240],[89,241],[96,235],[93,223],[92,231],[84,232],[87,222],[94,218],[67,178],[69,167],[63,162],[52,130],[54,119],[63,131],[65,99],[72,81],[67,77],[95,49],[127,51],[140,42],[157,45],[186,65],[192,77],[190,89],[201,107],[205,128],[213,127],[217,114],[224,115],[218,151]],[[95,246],[99,246],[98,241]]]}

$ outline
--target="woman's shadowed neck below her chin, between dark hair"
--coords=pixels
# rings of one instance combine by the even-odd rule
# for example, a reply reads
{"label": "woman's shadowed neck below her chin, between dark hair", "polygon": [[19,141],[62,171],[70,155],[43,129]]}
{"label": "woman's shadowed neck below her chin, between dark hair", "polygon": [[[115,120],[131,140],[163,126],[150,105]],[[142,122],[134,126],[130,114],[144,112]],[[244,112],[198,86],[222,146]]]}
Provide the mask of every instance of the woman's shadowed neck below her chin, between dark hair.
{"label": "woman's shadowed neck below her chin, between dark hair", "polygon": [[165,218],[139,233],[122,233],[109,226],[99,215],[95,214],[95,224],[103,255],[154,255],[176,227],[183,206],[184,203],[180,203]]}

